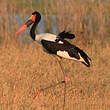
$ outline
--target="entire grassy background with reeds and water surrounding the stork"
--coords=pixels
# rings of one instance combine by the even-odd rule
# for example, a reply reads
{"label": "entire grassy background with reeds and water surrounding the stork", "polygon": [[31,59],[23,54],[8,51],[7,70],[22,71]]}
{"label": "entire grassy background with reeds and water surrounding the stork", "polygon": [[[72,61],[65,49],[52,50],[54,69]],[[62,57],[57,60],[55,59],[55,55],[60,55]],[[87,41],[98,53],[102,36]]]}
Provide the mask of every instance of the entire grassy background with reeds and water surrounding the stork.
{"label": "entire grassy background with reeds and water surrounding the stork", "polygon": [[15,41],[15,32],[33,11],[41,13],[37,33],[76,35],[70,41],[88,53],[88,69],[63,59],[71,81],[65,110],[110,109],[110,0],[1,0],[0,1],[0,110],[62,110],[63,86],[36,88],[63,79],[56,59],[29,37],[29,29]]}

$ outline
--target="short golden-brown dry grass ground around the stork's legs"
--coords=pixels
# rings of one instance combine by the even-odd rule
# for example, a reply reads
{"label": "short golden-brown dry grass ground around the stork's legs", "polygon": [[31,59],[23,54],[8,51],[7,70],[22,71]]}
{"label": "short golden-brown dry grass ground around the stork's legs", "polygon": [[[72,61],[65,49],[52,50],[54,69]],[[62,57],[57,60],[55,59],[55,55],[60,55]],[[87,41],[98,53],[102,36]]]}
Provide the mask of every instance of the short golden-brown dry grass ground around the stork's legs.
{"label": "short golden-brown dry grass ground around the stork's legs", "polygon": [[[98,45],[98,44],[97,44]],[[110,45],[83,48],[92,65],[63,59],[70,77],[66,87],[65,110],[110,109]],[[1,110],[62,110],[63,84],[40,92],[63,80],[56,58],[36,43],[29,46],[11,43],[0,48]]]}

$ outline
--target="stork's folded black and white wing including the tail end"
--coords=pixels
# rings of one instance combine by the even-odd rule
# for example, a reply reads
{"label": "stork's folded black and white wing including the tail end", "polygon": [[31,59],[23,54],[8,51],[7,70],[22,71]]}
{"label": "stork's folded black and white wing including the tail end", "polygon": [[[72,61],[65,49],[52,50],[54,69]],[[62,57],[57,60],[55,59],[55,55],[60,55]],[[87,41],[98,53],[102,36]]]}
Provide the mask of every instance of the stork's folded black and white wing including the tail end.
{"label": "stork's folded black and white wing including the tail end", "polygon": [[55,54],[63,58],[73,59],[82,62],[87,67],[90,67],[91,59],[88,55],[78,47],[71,45],[68,41],[63,40],[61,42],[51,42],[42,40],[42,46],[50,54]]}

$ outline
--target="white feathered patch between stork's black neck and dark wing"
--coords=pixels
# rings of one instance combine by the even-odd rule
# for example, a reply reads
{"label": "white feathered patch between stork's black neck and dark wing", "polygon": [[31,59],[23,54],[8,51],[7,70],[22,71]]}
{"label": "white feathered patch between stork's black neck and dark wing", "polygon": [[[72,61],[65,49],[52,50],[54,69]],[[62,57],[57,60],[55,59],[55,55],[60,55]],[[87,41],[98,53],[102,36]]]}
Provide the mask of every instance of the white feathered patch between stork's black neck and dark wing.
{"label": "white feathered patch between stork's black neck and dark wing", "polygon": [[41,41],[41,40],[47,40],[47,41],[53,41],[55,42],[56,40],[56,35],[55,34],[50,34],[50,33],[42,33],[42,34],[37,34],[35,37],[36,41]]}

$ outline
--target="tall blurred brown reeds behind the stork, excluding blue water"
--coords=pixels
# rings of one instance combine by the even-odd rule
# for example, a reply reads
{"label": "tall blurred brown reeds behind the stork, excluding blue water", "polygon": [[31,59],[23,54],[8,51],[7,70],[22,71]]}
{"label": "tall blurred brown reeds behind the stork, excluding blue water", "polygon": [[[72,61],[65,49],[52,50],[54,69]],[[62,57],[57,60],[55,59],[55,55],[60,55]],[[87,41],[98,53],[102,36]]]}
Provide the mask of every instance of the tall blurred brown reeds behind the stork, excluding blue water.
{"label": "tall blurred brown reeds behind the stork, excluding blue water", "polygon": [[[109,4],[110,2],[107,0],[103,2],[100,0],[85,2],[81,2],[80,0],[38,0],[36,2],[34,0],[12,0],[11,3],[9,3],[8,0],[4,0],[1,2],[0,7],[0,37],[3,39],[9,36],[9,34],[13,34],[15,32],[17,29],[17,22],[15,22],[16,14],[25,17],[27,13],[31,14],[33,10],[37,10],[45,15],[46,28],[48,31],[51,31],[52,25],[50,17],[55,14],[57,16],[59,32],[65,29],[75,33],[77,39],[80,41],[83,40],[88,43],[92,43],[93,39],[98,39],[103,43],[105,39],[109,40],[110,35]],[[11,24],[10,16],[12,17]],[[11,32],[10,27],[12,28]]]}

